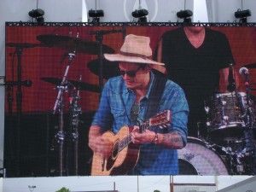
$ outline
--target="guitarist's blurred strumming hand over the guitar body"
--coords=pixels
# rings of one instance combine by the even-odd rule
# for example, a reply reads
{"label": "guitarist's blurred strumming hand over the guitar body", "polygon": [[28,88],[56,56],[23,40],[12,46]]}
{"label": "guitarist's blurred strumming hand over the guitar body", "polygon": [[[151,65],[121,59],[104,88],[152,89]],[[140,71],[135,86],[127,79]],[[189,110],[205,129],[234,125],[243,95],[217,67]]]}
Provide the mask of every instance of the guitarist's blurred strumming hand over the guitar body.
{"label": "guitarist's blurred strumming hand over the guitar body", "polygon": [[89,147],[94,153],[108,158],[112,152],[113,143],[109,141],[108,137],[102,137],[100,130],[101,128],[96,125],[90,127]]}

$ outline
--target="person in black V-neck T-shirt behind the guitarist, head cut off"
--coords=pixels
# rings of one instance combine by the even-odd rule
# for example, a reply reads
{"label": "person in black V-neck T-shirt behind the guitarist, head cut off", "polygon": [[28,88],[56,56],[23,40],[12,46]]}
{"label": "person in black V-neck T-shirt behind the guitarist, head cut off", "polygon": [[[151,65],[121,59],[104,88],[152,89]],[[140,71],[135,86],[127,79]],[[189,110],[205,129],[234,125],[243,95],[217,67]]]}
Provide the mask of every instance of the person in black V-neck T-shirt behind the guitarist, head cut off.
{"label": "person in black V-neck T-shirt behind the guitarist, head cut off", "polygon": [[[238,86],[228,38],[204,26],[181,26],[162,35],[155,57],[166,63],[165,68],[158,69],[185,91],[190,109],[189,136],[207,134],[202,132],[206,128],[199,128],[207,119],[204,101],[219,92],[234,91]],[[220,78],[224,82],[221,86]]]}

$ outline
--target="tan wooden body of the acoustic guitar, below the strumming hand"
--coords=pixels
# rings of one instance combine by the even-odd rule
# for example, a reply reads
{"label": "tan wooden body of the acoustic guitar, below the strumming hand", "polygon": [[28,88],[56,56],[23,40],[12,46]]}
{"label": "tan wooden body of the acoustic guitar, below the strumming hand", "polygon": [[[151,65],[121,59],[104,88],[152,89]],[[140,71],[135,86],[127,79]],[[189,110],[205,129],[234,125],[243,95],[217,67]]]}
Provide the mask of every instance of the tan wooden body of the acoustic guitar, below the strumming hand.
{"label": "tan wooden body of the acoustic guitar, below the strumming hand", "polygon": [[130,133],[128,126],[123,126],[116,135],[107,131],[103,137],[113,143],[112,154],[108,159],[102,158],[101,155],[93,154],[91,175],[92,176],[108,176],[108,175],[125,175],[131,171],[137,164],[140,146],[129,143],[127,146],[119,150],[119,142]]}

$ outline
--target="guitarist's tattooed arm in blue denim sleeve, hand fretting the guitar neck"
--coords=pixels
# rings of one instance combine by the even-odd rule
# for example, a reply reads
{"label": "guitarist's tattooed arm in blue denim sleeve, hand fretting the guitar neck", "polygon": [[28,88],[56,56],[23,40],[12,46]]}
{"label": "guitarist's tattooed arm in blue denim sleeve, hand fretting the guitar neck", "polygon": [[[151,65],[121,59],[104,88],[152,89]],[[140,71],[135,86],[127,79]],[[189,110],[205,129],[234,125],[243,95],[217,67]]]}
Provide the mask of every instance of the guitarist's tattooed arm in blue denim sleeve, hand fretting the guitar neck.
{"label": "guitarist's tattooed arm in blue denim sleeve, hand fretting the guitar neck", "polygon": [[[154,131],[146,130],[139,133],[138,127],[135,126],[131,132],[131,141],[133,143],[154,143],[163,148],[180,149],[187,143],[187,122],[189,106],[184,96],[183,90],[172,89],[172,85],[165,90],[166,95],[162,106],[169,108],[172,113],[171,125],[164,129],[168,129],[166,133],[156,133]],[[165,110],[163,108],[163,110]]]}

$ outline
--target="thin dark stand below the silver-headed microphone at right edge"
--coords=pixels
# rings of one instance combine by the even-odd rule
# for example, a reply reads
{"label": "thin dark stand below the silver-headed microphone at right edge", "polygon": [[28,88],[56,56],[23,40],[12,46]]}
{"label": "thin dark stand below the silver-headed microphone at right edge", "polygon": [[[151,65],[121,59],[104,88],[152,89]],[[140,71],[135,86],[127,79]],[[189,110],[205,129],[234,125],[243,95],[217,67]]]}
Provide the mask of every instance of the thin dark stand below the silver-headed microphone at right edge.
{"label": "thin dark stand below the silver-headed microphone at right edge", "polygon": [[252,157],[250,159],[250,165],[252,166],[250,169],[249,174],[255,175],[256,173],[256,146],[255,143],[253,142],[253,127],[254,123],[253,122],[253,112],[252,112],[252,106],[251,106],[251,96],[250,96],[250,84],[249,84],[249,77],[248,73],[245,73],[245,81],[244,84],[246,86],[246,100],[247,100],[247,106],[246,106],[246,116],[245,116],[245,121],[246,121],[246,129],[244,130],[244,137],[245,137],[245,153],[246,156],[248,155],[249,157]]}

